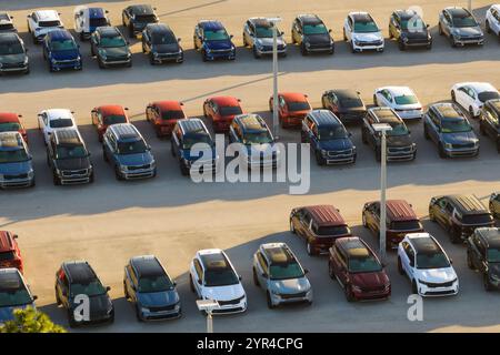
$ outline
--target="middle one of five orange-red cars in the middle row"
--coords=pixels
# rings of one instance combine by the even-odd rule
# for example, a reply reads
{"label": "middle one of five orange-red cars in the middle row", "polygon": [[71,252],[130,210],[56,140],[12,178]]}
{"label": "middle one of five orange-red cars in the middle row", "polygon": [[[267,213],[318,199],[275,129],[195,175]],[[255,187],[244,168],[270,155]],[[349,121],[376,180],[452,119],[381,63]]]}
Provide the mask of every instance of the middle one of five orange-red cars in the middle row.
{"label": "middle one of five orange-red cars in the middle row", "polygon": [[170,136],[177,121],[186,119],[179,101],[157,101],[146,108],[146,119],[154,126],[157,136]]}

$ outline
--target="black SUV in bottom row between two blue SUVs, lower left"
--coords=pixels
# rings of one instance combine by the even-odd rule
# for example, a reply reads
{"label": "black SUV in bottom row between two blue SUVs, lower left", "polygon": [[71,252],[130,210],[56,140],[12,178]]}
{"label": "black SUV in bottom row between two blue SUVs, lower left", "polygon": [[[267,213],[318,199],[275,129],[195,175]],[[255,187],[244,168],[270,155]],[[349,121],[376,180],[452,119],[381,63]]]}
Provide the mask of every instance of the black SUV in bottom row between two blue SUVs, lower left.
{"label": "black SUV in bottom row between two blue SUVs, lower left", "polygon": [[[68,312],[71,327],[114,322],[114,306],[93,268],[86,261],[64,262],[56,273],[56,302]],[[88,313],[84,310],[88,301]],[[88,316],[88,317],[87,317]]]}

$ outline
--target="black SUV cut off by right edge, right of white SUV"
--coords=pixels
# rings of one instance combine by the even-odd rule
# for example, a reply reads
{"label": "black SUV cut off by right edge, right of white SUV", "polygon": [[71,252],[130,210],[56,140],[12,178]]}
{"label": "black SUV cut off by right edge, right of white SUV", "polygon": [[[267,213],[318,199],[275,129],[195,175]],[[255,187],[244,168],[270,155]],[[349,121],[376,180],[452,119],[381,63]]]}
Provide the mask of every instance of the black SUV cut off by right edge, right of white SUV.
{"label": "black SUV cut off by right edge, right of white SUV", "polygon": [[482,274],[486,291],[500,288],[500,230],[481,227],[466,241],[467,265]]}

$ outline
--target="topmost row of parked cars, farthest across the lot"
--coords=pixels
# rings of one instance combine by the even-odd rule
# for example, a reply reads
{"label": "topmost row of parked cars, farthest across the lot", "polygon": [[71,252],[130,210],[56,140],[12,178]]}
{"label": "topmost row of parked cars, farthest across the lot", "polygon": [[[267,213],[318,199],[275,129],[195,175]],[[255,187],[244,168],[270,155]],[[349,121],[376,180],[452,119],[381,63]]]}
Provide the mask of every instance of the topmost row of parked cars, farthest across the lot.
{"label": "topmost row of parked cars, farthest across the lot", "polygon": [[[129,6],[122,11],[122,24],[130,38],[141,36],[142,52],[151,64],[183,61],[180,39],[167,24],[160,23],[156,9],[148,4]],[[486,16],[486,30],[500,39],[500,6],[493,4]],[[439,34],[449,38],[453,47],[482,45],[484,36],[473,14],[463,8],[446,8],[439,16]],[[28,16],[28,30],[33,43],[43,43],[43,58],[50,71],[82,69],[80,45],[64,29],[56,10],[37,10]],[[99,68],[132,65],[129,41],[117,27],[111,26],[108,12],[102,8],[78,7],[74,10],[74,31],[80,39],[90,39],[91,54]],[[274,23],[268,18],[250,18],[243,26],[243,45],[256,58],[273,50]],[[0,72],[29,72],[29,59],[23,41],[17,36],[12,18],[0,13]],[[277,29],[278,53],[287,55],[284,33]],[[389,38],[401,50],[414,47],[431,49],[429,26],[414,10],[396,10],[389,20]],[[351,12],[343,23],[343,39],[352,52],[383,51],[384,37],[368,12]],[[291,40],[303,55],[317,52],[333,54],[331,29],[317,14],[299,14],[291,28]],[[223,24],[218,20],[202,20],[194,27],[194,49],[203,61],[234,60],[237,49]]]}

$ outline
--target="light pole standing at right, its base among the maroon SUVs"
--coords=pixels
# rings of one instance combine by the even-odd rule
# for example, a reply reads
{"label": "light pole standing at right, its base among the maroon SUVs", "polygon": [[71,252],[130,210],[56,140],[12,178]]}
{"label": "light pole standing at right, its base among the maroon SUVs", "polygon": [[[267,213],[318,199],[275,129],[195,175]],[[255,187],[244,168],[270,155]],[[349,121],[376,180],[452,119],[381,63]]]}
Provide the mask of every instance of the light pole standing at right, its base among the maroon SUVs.
{"label": "light pole standing at right, its base among the maroon SUVs", "polygon": [[386,234],[387,234],[387,214],[386,214],[386,190],[387,190],[387,138],[386,133],[392,131],[387,123],[374,123],[373,130],[380,132],[382,142],[380,148],[380,261],[386,262]]}

